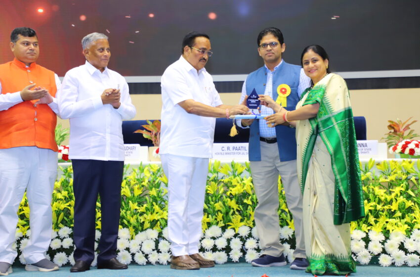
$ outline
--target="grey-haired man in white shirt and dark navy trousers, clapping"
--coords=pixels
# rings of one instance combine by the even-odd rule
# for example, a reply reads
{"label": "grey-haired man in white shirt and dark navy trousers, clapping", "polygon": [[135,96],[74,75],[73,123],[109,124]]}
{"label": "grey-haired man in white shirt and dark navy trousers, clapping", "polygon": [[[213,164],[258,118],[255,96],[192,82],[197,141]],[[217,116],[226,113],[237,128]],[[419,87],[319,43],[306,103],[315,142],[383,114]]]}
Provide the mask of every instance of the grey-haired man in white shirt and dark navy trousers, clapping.
{"label": "grey-haired man in white shirt and dark navy trousers, clapping", "polygon": [[61,117],[70,119],[69,158],[75,194],[75,265],[70,272],[89,270],[95,258],[96,200],[101,199],[102,234],[98,269],[126,269],[116,259],[124,170],[122,121],[135,116],[123,76],[108,69],[108,37],[92,33],[82,40],[84,65],[69,70],[58,92]]}

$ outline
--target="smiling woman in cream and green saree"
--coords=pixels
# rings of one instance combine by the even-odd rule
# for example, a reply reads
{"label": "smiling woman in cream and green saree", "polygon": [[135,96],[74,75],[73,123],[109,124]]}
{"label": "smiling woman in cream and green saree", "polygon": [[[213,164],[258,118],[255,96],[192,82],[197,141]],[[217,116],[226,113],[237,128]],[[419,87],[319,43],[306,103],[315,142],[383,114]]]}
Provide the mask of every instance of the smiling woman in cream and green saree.
{"label": "smiling woman in cream and green saree", "polygon": [[345,81],[329,72],[323,47],[305,47],[301,62],[312,86],[302,93],[296,110],[287,111],[266,95],[259,99],[276,111],[266,118],[268,126],[296,127],[306,272],[347,275],[356,272],[349,223],[365,216],[349,92]]}

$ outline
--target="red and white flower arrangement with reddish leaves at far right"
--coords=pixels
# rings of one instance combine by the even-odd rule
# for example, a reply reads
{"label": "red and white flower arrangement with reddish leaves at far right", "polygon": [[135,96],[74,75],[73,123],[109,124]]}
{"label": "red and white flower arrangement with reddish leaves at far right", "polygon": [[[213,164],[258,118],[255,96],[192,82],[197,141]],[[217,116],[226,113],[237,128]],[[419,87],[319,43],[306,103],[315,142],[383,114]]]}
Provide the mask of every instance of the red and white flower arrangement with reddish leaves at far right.
{"label": "red and white flower arrangement with reddish leaves at far right", "polygon": [[389,153],[395,154],[396,158],[416,158],[420,156],[420,141],[415,139],[419,135],[415,134],[414,130],[410,130],[410,125],[416,123],[417,120],[409,123],[410,119],[412,117],[404,122],[398,118],[396,122],[388,120],[387,127],[390,131],[382,139],[385,139],[389,147]]}

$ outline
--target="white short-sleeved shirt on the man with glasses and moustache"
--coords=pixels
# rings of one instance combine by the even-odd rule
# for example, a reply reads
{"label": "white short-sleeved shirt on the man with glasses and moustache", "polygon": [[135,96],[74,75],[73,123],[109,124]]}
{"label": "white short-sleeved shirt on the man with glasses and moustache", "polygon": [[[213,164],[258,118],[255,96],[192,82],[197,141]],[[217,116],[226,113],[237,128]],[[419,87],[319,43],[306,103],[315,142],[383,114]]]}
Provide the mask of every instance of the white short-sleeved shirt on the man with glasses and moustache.
{"label": "white short-sleeved shirt on the man with glasses and moustache", "polygon": [[213,117],[187,113],[179,102],[194,101],[216,107],[222,103],[205,68],[197,73],[184,57],[165,70],[162,87],[162,132],[159,153],[211,158],[214,139]]}

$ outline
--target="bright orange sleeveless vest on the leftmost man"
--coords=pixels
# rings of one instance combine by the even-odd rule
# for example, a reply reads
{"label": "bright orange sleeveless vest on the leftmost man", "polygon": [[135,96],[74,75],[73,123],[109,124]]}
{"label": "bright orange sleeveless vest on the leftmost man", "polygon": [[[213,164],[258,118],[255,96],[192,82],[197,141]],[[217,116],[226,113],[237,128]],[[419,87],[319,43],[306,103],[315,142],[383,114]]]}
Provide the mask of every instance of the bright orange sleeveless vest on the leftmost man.
{"label": "bright orange sleeveless vest on the leftmost man", "polygon": [[[37,84],[55,96],[54,72],[35,62],[26,67],[16,58],[0,64],[1,93],[20,92],[30,84]],[[57,151],[55,125],[57,116],[47,104],[23,101],[0,111],[0,149],[20,146],[37,146]]]}

